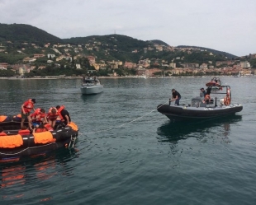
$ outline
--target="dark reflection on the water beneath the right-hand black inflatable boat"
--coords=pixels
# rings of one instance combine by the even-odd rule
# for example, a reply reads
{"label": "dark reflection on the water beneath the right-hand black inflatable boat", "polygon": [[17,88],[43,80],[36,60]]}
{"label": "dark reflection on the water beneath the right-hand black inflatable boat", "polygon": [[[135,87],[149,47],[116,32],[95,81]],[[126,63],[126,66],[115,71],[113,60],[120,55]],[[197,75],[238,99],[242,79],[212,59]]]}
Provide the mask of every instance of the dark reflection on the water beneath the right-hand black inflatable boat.
{"label": "dark reflection on the water beneath the right-hand black inflatable boat", "polygon": [[230,134],[230,125],[239,122],[241,115],[230,115],[222,119],[210,119],[205,121],[178,122],[168,121],[157,129],[159,142],[173,142],[186,139],[187,137],[197,137],[203,139],[211,133],[212,128],[216,128],[219,135],[228,137]]}

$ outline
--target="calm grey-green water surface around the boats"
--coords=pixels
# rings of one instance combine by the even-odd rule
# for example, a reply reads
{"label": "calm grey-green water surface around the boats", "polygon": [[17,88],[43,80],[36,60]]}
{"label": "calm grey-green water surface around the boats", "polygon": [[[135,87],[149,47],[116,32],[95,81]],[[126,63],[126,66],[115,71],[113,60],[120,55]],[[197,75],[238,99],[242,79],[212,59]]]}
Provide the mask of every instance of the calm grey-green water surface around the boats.
{"label": "calm grey-green water surface around the boats", "polygon": [[171,123],[156,106],[171,89],[189,103],[211,78],[0,80],[0,114],[65,105],[75,149],[0,164],[1,204],[255,204],[256,77],[221,77],[244,109],[225,119]]}

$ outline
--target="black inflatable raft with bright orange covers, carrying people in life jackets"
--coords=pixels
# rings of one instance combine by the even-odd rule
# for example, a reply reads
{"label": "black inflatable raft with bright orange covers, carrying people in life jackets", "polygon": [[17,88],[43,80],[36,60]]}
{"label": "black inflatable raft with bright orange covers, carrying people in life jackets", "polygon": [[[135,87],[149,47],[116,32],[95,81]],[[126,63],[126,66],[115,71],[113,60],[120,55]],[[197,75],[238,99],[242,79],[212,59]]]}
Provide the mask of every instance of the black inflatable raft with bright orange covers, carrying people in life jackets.
{"label": "black inflatable raft with bright orange covers, carrying people in life jackets", "polygon": [[59,147],[73,147],[78,137],[78,126],[73,122],[54,131],[26,135],[18,133],[20,126],[16,121],[0,123],[0,128],[7,134],[0,136],[0,160],[43,154]]}

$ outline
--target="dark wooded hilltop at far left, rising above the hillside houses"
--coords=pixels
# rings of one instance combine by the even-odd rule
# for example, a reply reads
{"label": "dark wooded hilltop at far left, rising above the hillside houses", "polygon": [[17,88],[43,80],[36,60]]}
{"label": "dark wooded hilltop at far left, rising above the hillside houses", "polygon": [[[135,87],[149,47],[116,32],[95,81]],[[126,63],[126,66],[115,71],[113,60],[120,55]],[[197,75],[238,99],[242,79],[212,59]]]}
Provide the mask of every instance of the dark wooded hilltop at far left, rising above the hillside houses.
{"label": "dark wooded hilltop at far left, rising above the hillside houses", "polygon": [[31,42],[31,43],[59,43],[61,39],[50,35],[45,30],[25,24],[0,24],[0,42]]}

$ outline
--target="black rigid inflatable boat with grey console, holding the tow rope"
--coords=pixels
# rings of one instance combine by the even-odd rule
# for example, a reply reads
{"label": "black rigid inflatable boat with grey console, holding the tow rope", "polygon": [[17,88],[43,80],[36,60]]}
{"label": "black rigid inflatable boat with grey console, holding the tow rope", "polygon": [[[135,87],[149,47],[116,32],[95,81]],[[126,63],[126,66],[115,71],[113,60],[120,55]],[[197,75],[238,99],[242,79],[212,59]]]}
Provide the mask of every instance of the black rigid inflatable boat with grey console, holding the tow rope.
{"label": "black rigid inflatable boat with grey console, holding the tow rope", "polygon": [[[211,87],[208,88],[211,89]],[[228,103],[224,104],[224,99],[218,99],[217,97],[208,101],[201,97],[195,97],[188,105],[161,104],[157,106],[157,109],[159,113],[166,115],[171,120],[213,119],[240,112],[243,105],[230,104],[230,86],[221,86],[221,88],[226,89],[226,92],[218,92],[215,95],[225,94],[225,96],[229,96]],[[217,101],[220,101],[220,103],[217,103]]]}

